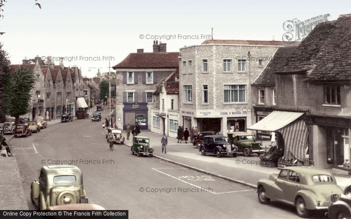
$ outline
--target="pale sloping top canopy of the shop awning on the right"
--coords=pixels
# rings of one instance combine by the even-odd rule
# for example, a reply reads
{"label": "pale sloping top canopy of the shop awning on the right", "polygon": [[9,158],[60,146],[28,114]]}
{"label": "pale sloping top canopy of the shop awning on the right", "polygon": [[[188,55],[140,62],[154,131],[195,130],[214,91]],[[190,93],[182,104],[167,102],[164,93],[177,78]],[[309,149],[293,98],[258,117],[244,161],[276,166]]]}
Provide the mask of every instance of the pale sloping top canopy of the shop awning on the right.
{"label": "pale sloping top canopy of the shop awning on the right", "polygon": [[273,111],[264,117],[262,120],[251,125],[247,129],[260,131],[276,131],[291,122],[295,121],[304,112],[290,112],[290,111]]}

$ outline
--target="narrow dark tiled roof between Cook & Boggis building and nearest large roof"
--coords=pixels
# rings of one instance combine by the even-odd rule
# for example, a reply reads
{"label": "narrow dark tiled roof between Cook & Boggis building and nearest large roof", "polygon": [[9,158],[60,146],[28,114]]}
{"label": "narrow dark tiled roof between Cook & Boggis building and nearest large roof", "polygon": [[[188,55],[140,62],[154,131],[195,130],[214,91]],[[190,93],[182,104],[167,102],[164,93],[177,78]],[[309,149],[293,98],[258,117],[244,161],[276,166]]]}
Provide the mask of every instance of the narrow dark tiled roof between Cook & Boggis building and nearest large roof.
{"label": "narrow dark tiled roof between Cook & Boggis building and nearest large roof", "polygon": [[278,48],[272,59],[252,85],[275,86],[274,72],[285,64],[285,60],[295,49],[296,46]]}

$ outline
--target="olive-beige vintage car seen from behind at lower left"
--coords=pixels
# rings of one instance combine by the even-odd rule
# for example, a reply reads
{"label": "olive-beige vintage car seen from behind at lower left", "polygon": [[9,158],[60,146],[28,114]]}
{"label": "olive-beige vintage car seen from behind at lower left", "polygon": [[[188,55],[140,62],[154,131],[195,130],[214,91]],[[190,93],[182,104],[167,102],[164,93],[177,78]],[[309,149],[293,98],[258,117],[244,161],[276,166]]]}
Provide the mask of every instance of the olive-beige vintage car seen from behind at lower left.
{"label": "olive-beige vintage car seen from behind at lower left", "polygon": [[81,170],[74,165],[49,165],[31,184],[31,201],[39,209],[48,206],[88,203]]}

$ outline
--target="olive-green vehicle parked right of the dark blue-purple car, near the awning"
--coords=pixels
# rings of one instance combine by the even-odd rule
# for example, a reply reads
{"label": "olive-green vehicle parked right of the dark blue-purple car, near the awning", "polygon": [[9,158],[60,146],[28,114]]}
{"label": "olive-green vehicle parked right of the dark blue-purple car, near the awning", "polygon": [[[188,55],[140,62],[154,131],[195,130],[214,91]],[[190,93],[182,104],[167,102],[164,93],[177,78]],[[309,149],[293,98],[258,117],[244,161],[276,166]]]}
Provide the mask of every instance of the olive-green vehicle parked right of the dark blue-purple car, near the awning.
{"label": "olive-green vehicle parked right of the dark blue-purple car, near the awning", "polygon": [[251,153],[260,155],[264,153],[262,142],[256,141],[253,134],[244,131],[228,132],[229,142],[238,146],[239,152],[243,152],[245,156],[250,156]]}

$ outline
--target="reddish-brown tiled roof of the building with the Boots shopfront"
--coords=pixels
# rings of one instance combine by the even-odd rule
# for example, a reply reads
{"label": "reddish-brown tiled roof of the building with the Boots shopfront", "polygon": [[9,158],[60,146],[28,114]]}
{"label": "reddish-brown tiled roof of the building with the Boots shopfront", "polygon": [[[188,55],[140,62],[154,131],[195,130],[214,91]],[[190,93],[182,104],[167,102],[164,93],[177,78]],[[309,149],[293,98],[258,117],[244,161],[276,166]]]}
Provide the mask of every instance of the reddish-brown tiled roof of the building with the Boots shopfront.
{"label": "reddish-brown tiled roof of the building with the Boots shopfront", "polygon": [[179,67],[178,56],[179,52],[129,53],[112,68],[174,68]]}

